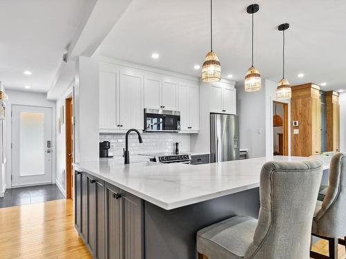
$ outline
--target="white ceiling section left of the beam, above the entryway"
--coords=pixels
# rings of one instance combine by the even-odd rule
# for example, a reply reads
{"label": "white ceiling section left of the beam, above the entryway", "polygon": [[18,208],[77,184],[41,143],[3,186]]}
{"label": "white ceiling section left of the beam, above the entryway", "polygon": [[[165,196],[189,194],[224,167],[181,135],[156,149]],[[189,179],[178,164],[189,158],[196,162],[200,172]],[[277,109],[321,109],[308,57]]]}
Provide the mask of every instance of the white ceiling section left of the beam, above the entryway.
{"label": "white ceiling section left of the beam, above the entryway", "polygon": [[[93,0],[0,1],[0,81],[46,92]],[[26,76],[24,70],[33,75]]]}

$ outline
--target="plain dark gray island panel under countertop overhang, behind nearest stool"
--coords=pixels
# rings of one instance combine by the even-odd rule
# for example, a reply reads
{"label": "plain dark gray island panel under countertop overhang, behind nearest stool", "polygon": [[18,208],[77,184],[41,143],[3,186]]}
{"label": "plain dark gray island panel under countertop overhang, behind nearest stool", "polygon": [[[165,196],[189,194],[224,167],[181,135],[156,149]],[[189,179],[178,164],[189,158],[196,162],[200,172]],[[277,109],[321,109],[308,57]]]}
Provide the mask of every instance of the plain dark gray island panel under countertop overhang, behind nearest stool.
{"label": "plain dark gray island panel under countertop overhang, behind nearest stool", "polygon": [[250,189],[167,211],[145,202],[145,258],[195,259],[199,229],[233,215],[258,217],[259,189]]}

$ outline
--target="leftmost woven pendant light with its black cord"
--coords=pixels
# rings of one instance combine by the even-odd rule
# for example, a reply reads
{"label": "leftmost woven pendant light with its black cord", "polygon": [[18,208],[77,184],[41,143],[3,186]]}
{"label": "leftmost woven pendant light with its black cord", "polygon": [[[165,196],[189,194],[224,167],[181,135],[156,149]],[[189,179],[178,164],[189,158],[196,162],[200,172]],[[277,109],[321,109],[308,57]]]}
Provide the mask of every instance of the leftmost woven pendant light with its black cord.
{"label": "leftmost woven pendant light with its black cord", "polygon": [[212,51],[212,0],[210,0],[210,52],[207,53],[206,59],[204,59],[201,78],[205,82],[221,80],[220,61],[215,52]]}

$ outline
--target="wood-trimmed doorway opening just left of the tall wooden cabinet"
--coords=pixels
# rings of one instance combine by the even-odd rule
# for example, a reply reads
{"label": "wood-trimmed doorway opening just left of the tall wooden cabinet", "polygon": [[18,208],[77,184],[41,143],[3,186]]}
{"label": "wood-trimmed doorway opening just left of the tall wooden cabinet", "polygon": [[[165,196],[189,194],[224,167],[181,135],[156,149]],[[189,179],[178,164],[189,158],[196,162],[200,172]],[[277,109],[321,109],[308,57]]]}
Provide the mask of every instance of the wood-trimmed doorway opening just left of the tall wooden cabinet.
{"label": "wood-trimmed doorway opening just left of the tall wooden cabinet", "polygon": [[289,155],[289,105],[273,101],[273,155]]}

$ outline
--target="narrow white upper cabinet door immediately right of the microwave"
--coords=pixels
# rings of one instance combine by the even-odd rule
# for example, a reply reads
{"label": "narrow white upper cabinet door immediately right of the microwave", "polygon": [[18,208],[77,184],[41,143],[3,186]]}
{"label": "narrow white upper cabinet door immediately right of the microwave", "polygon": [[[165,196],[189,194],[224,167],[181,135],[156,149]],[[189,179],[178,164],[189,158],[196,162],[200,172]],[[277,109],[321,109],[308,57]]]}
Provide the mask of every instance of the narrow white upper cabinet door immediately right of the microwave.
{"label": "narrow white upper cabinet door immediately right of the microwave", "polygon": [[181,131],[190,130],[189,87],[179,84],[179,111]]}

